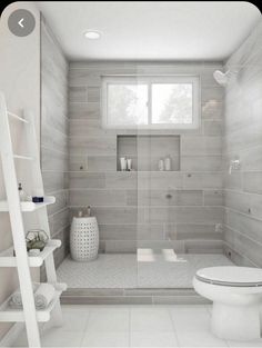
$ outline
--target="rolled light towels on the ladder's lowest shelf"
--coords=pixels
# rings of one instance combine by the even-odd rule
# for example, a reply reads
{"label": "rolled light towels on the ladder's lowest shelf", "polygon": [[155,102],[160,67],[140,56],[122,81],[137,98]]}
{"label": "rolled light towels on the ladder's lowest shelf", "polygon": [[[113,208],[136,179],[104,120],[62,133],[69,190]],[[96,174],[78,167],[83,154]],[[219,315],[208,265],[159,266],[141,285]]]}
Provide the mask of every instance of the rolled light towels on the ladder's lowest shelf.
{"label": "rolled light towels on the ladder's lowest shelf", "polygon": [[[51,284],[33,284],[33,296],[37,309],[44,309],[52,301],[56,294],[56,289]],[[22,296],[20,290],[17,290],[10,299],[10,306],[12,308],[22,308]]]}

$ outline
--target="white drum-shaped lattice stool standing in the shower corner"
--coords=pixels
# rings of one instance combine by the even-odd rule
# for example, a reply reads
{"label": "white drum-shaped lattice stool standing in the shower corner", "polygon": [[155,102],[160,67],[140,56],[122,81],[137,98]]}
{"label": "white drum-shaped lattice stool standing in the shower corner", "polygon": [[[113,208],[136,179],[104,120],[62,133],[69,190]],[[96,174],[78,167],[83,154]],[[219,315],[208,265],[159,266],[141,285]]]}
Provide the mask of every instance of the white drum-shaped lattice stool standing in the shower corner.
{"label": "white drum-shaped lattice stool standing in the shower corner", "polygon": [[74,217],[70,230],[71,257],[74,261],[91,261],[98,257],[99,229],[95,217]]}

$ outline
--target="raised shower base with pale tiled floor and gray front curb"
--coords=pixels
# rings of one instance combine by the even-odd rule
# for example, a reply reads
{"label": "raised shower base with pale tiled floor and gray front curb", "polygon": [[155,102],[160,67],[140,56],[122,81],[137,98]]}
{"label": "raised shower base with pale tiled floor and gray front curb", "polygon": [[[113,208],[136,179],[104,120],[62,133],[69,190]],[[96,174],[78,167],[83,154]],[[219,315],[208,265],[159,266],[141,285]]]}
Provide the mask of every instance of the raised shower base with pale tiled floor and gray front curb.
{"label": "raised shower base with pale tiled floor and gray front curb", "polygon": [[158,255],[138,261],[134,253],[101,253],[92,262],[68,257],[58,268],[58,279],[68,285],[63,304],[206,304],[192,288],[195,271],[232,265],[222,253],[183,253],[170,261]]}

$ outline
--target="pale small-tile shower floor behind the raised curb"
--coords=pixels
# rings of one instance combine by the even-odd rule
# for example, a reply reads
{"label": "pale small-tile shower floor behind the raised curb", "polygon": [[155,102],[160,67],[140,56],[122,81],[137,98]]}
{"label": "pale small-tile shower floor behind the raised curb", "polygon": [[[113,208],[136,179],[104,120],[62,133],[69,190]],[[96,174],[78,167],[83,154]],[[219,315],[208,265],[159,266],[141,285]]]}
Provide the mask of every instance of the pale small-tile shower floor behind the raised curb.
{"label": "pale small-tile shower floor behind the raised curb", "polygon": [[58,279],[69,288],[191,288],[198,269],[233,265],[221,253],[174,253],[171,260],[158,253],[138,256],[101,253],[92,262],[69,257],[58,268]]}

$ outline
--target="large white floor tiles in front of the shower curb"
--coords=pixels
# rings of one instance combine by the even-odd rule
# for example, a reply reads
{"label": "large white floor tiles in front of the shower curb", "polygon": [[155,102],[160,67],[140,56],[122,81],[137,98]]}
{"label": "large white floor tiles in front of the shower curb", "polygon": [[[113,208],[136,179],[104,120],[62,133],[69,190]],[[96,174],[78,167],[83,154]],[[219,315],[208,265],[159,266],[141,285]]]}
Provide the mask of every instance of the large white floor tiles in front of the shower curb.
{"label": "large white floor tiles in front of the shower curb", "polygon": [[[210,332],[210,306],[63,306],[64,325],[42,334],[43,347],[262,347]],[[24,334],[13,347],[27,346]]]}

